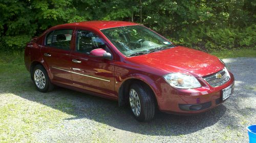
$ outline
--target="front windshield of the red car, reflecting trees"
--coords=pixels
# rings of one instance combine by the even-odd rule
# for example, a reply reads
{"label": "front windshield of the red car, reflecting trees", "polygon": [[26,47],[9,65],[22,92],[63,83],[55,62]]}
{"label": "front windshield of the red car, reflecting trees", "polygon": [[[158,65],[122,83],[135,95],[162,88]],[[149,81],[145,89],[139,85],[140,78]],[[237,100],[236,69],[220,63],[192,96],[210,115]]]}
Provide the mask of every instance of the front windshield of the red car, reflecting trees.
{"label": "front windshield of the red car, reflecting trees", "polygon": [[141,25],[108,28],[101,32],[125,56],[146,54],[174,47],[172,43]]}

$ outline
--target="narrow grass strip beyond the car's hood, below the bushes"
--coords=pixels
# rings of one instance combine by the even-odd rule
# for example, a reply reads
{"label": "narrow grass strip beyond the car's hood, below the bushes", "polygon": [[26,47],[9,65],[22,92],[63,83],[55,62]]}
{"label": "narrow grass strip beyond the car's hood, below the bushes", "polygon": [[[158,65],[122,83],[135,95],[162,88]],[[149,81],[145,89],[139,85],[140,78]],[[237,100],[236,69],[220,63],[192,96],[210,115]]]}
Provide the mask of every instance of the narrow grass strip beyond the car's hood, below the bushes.
{"label": "narrow grass strip beyond the car's hood, below the bushes", "polygon": [[218,56],[220,59],[238,58],[238,57],[256,57],[256,48],[220,50],[210,52],[212,55]]}

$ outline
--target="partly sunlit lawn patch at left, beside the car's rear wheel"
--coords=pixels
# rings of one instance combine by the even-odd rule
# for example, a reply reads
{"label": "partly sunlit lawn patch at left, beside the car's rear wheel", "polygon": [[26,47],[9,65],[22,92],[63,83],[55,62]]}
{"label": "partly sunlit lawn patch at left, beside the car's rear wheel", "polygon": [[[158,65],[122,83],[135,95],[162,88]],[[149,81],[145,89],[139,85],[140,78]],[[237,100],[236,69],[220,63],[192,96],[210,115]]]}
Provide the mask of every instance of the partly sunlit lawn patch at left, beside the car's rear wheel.
{"label": "partly sunlit lawn patch at left, beside the car's rear wheel", "polygon": [[[27,100],[31,97],[28,93],[36,90],[25,68],[23,53],[0,55],[0,142],[34,142],[33,133],[54,128],[62,119],[73,117],[64,109],[58,110],[65,108],[70,112],[72,105],[66,100],[55,104],[56,108]],[[45,100],[49,99],[48,96]]]}

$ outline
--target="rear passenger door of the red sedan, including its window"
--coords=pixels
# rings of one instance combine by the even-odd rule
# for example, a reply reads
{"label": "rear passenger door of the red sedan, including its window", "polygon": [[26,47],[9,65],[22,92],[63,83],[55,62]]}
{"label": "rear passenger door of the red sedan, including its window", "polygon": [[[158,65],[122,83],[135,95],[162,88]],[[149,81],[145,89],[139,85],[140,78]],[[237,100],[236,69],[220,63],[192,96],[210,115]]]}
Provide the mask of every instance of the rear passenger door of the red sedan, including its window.
{"label": "rear passenger door of the red sedan, including its window", "polygon": [[45,38],[45,45],[41,48],[43,60],[50,69],[50,78],[54,82],[72,85],[70,54],[73,31],[61,29],[49,32]]}

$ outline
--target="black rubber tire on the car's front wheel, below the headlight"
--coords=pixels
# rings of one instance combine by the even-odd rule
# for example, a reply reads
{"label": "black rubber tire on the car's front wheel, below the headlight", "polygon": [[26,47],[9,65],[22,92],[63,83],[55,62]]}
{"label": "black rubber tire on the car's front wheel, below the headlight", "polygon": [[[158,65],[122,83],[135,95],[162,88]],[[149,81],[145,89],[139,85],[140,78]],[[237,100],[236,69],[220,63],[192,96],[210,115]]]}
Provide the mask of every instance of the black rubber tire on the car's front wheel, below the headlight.
{"label": "black rubber tire on the car's front wheel, below the headlight", "polygon": [[[136,91],[140,101],[140,113],[137,116],[135,115],[136,113],[134,113],[132,109],[132,103],[130,102],[132,89]],[[133,83],[130,86],[128,100],[129,100],[129,104],[130,104],[133,116],[137,121],[147,122],[154,118],[156,103],[155,103],[154,93],[152,92],[150,87],[140,82]]]}

